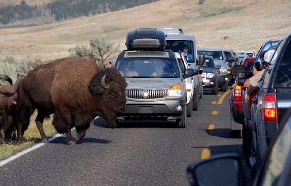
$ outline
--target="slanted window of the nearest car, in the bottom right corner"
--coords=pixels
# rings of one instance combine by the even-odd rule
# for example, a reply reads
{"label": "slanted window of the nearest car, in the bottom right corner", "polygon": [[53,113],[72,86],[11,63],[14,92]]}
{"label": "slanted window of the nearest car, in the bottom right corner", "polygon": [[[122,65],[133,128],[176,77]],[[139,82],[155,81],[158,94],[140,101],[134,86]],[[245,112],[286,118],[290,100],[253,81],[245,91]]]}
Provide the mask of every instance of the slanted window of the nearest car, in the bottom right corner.
{"label": "slanted window of the nearest car, in the bottom right corner", "polygon": [[291,117],[280,130],[262,170],[262,186],[276,186],[291,152]]}

